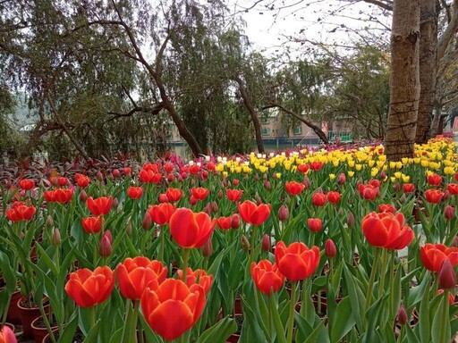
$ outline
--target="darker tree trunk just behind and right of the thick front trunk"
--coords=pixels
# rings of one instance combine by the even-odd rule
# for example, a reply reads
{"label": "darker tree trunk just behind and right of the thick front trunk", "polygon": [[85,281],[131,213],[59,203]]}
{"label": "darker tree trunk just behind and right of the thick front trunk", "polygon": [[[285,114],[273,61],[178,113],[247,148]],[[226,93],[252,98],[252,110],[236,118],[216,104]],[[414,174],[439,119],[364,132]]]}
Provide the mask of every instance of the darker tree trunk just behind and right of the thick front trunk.
{"label": "darker tree trunk just behind and right of the thick front trunk", "polygon": [[427,143],[436,92],[437,6],[436,0],[420,2],[420,104],[416,143]]}

